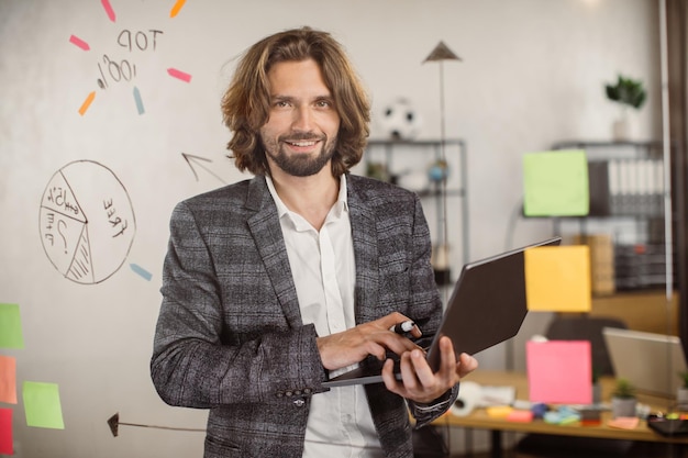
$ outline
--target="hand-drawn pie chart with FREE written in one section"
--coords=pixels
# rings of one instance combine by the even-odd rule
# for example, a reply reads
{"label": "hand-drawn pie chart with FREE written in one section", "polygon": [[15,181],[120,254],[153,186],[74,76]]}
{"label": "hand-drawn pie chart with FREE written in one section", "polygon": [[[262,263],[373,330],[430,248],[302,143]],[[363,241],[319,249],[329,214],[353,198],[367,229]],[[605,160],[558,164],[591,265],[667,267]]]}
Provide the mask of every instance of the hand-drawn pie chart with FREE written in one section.
{"label": "hand-drawn pie chart with FREE written in one section", "polygon": [[107,167],[77,160],[60,168],[41,200],[43,249],[67,279],[99,283],[126,260],[136,233],[126,189]]}

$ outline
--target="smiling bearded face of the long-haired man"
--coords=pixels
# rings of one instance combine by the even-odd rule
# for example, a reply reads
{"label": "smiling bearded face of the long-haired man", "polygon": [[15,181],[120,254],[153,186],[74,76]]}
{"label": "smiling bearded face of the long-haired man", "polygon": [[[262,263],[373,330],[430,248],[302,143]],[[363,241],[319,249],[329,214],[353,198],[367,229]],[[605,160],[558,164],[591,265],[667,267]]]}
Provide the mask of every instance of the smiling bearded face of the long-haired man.
{"label": "smiling bearded face of the long-haired man", "polygon": [[336,147],[340,115],[320,67],[313,59],[281,62],[268,71],[269,119],[260,127],[270,171],[295,177],[315,175]]}

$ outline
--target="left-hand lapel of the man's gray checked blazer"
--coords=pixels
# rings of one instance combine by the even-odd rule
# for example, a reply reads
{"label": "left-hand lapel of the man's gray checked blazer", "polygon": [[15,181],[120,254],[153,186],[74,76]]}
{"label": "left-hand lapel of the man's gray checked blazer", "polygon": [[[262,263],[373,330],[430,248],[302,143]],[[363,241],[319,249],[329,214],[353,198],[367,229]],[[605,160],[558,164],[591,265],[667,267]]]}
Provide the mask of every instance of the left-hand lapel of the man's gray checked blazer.
{"label": "left-hand lapel of the man's gray checked blazer", "polygon": [[279,215],[264,177],[255,177],[251,181],[246,208],[255,211],[248,217],[248,227],[287,322],[291,327],[302,326],[299,298],[291,276]]}

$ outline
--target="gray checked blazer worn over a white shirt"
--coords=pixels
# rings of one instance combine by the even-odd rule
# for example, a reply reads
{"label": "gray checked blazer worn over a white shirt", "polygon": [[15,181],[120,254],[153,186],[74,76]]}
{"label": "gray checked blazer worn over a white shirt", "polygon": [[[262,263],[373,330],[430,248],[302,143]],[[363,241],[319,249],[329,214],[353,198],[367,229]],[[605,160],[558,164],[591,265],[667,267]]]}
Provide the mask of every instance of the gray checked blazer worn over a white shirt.
{"label": "gray checked blazer worn over a white shirt", "polygon": [[[347,176],[356,322],[393,311],[433,335],[442,305],[418,197]],[[264,177],[179,203],[170,220],[151,375],[170,405],[209,409],[206,458],[301,457],[311,396],[326,378],[303,325],[277,209]],[[454,401],[408,402],[417,427]],[[388,457],[413,456],[407,401],[366,386]]]}

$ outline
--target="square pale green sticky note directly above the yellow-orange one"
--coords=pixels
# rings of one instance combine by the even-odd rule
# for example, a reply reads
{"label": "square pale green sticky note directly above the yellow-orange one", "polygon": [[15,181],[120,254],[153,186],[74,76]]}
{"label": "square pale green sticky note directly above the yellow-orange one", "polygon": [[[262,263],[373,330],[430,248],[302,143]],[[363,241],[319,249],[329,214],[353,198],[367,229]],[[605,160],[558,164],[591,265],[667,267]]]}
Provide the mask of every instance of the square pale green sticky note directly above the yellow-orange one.
{"label": "square pale green sticky note directly above the yellow-orange one", "polygon": [[582,149],[523,156],[525,216],[585,216],[590,212],[588,159]]}

